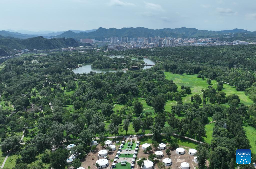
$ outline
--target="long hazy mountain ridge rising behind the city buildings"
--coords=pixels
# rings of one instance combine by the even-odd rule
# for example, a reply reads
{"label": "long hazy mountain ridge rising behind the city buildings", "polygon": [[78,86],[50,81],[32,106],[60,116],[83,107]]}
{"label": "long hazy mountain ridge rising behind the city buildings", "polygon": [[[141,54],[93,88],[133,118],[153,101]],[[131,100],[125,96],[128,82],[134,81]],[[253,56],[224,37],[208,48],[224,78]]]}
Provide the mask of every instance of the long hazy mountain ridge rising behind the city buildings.
{"label": "long hazy mountain ridge rising behind the city buildings", "polygon": [[[217,37],[220,34],[228,34],[228,33],[244,33],[246,30],[243,29],[234,29],[234,30],[223,30],[223,31],[208,31],[208,30],[198,30],[196,28],[164,28],[164,29],[148,29],[144,27],[137,28],[102,28],[100,27],[98,30],[93,32],[64,32],[56,37],[70,37],[79,40],[81,38],[95,38],[96,40],[102,40],[104,38],[108,38],[111,36],[128,36],[129,38],[135,38],[139,36],[144,37],[177,37],[177,38],[185,38],[185,37],[199,37],[199,38],[207,38],[207,37]],[[256,32],[248,32],[251,34],[256,34]]]}

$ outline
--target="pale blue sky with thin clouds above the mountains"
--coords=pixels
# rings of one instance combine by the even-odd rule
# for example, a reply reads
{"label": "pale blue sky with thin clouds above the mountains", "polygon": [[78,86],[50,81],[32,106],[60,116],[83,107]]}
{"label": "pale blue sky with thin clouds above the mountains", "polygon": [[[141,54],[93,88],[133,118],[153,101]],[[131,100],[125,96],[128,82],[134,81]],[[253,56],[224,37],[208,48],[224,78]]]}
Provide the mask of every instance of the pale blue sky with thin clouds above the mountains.
{"label": "pale blue sky with thin clouds above the mountains", "polygon": [[255,0],[0,0],[0,30],[145,27],[256,31]]}

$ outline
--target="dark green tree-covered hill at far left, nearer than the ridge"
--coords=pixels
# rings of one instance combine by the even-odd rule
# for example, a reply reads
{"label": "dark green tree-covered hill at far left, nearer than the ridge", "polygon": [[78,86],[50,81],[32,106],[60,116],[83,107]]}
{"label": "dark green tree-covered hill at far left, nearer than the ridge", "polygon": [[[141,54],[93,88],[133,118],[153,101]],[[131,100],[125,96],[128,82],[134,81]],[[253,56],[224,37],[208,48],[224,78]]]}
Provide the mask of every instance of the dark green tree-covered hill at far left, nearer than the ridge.
{"label": "dark green tree-covered hill at far left, nearer than the ridge", "polygon": [[27,39],[18,39],[13,37],[0,37],[0,56],[13,54],[13,49],[59,49],[64,47],[81,46],[80,42],[73,38],[52,38],[47,39],[43,36]]}

